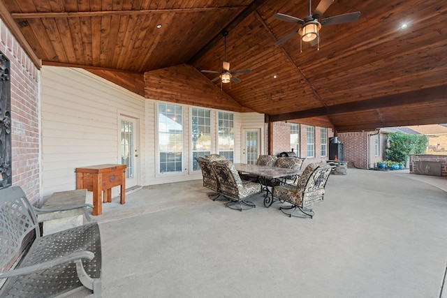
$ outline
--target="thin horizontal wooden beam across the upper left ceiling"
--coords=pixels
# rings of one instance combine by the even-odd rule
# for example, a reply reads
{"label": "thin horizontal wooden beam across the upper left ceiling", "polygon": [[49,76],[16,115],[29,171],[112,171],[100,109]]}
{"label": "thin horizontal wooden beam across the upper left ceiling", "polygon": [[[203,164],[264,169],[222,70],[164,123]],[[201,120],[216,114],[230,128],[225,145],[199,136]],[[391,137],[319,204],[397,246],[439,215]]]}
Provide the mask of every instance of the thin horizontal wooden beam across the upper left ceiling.
{"label": "thin horizontal wooden beam across the upper left ceiling", "polygon": [[172,9],[142,9],[142,10],[107,10],[107,11],[76,11],[72,13],[11,13],[13,19],[47,19],[59,17],[102,17],[110,15],[142,15],[160,13],[196,13],[203,11],[217,10],[239,10],[245,6],[219,6],[219,7],[199,7],[199,8],[172,8]]}

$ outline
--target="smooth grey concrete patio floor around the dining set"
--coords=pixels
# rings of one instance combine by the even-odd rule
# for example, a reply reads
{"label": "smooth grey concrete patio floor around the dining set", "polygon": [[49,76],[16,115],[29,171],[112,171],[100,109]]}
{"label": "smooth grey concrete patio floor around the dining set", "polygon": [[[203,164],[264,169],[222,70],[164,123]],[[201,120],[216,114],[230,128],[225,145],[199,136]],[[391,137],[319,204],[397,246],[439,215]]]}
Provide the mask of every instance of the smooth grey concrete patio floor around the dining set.
{"label": "smooth grey concrete patio floor around the dining set", "polygon": [[446,191],[441,177],[349,169],[310,219],[262,195],[228,209],[201,180],[147,186],[95,217],[103,297],[447,297]]}

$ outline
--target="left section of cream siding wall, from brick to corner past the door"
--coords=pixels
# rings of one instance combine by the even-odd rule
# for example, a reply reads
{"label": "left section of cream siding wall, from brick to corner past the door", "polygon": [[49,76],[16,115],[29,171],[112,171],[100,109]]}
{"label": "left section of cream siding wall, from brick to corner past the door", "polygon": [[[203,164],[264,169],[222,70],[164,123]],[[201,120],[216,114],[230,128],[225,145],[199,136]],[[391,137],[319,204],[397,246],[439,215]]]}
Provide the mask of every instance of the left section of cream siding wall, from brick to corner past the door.
{"label": "left section of cream siding wall, from brick to corner past the door", "polygon": [[[140,142],[144,142],[144,110],[142,96],[86,70],[44,66],[43,195],[75,189],[76,167],[121,163],[120,114],[140,119]],[[140,163],[145,163],[145,156],[140,156]],[[118,189],[114,188],[112,195],[117,195]]]}

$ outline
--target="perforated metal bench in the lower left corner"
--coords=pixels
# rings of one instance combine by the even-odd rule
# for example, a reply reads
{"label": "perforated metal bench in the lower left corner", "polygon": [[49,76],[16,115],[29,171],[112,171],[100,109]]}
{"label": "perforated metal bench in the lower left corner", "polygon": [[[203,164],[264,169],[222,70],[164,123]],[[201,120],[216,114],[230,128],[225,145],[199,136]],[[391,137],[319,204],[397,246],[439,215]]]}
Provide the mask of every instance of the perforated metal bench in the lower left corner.
{"label": "perforated metal bench in the lower left corner", "polygon": [[42,237],[34,207],[19,186],[0,190],[0,249],[0,278],[7,278],[0,297],[84,293],[101,297],[98,224],[87,223]]}

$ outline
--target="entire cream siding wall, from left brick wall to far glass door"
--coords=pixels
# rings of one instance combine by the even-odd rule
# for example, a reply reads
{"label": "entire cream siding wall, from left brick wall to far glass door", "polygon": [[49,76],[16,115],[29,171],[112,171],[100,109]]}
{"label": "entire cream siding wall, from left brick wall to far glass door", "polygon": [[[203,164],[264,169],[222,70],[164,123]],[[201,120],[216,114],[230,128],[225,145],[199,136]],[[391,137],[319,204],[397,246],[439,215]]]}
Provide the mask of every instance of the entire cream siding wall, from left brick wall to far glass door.
{"label": "entire cream siding wall, from left brick wall to far glass door", "polygon": [[[189,105],[184,112],[183,172],[159,174],[157,103],[133,94],[101,77],[78,68],[45,66],[42,71],[43,195],[75,189],[75,168],[102,163],[121,163],[119,121],[124,114],[140,123],[140,186],[202,179],[191,169]],[[212,110],[214,131],[217,112]],[[241,129],[261,128],[265,147],[264,116],[235,114],[235,162],[240,162]],[[212,136],[217,153],[217,135]],[[112,195],[119,188],[113,188]]]}

